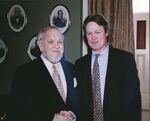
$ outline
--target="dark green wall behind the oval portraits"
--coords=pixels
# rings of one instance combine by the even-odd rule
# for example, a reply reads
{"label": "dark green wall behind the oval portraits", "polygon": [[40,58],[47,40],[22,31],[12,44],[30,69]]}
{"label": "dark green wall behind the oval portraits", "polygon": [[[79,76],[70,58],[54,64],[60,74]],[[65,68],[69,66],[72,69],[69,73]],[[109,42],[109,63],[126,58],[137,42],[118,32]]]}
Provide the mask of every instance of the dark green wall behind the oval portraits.
{"label": "dark green wall behind the oval portraits", "polygon": [[[14,32],[7,19],[12,5],[21,5],[27,15],[27,24],[20,32]],[[71,24],[65,34],[65,58],[74,63],[81,56],[81,0],[0,0],[0,39],[8,48],[5,60],[0,63],[0,94],[9,93],[15,68],[30,60],[27,48],[40,29],[49,25],[49,15],[57,4],[65,5],[70,13]]]}

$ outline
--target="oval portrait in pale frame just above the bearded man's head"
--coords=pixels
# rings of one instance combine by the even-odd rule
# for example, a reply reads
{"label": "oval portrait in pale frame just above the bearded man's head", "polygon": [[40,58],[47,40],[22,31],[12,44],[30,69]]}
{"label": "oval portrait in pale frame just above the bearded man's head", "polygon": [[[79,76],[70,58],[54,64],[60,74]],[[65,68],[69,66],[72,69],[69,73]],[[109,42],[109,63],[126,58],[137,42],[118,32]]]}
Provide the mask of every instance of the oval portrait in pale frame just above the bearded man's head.
{"label": "oval portrait in pale frame just above the bearded man's head", "polygon": [[57,5],[52,9],[49,16],[50,25],[59,28],[62,33],[66,32],[70,26],[70,14],[66,6]]}

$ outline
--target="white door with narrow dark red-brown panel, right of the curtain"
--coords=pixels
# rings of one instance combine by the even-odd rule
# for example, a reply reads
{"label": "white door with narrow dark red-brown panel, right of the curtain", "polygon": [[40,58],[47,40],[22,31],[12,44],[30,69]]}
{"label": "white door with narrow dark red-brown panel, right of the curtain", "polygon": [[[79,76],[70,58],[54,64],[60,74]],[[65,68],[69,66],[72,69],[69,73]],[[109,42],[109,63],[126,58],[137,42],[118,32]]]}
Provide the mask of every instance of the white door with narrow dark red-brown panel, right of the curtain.
{"label": "white door with narrow dark red-brown panel, right of the curtain", "polygon": [[[142,26],[139,22],[143,22]],[[140,78],[142,121],[149,121],[149,12],[134,13],[135,60]],[[143,43],[145,47],[140,47]]]}

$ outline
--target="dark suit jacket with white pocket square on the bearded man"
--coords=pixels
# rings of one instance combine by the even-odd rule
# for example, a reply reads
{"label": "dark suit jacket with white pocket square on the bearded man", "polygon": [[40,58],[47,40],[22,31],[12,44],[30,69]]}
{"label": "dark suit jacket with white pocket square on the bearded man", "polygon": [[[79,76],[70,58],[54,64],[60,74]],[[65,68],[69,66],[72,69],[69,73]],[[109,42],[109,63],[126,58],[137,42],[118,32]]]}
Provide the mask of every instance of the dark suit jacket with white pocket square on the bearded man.
{"label": "dark suit jacket with white pocket square on the bearded man", "polygon": [[[52,121],[55,113],[71,110],[77,113],[73,65],[61,61],[67,81],[67,101],[61,98],[41,58],[17,68],[11,89],[11,121]],[[77,114],[76,114],[77,115]]]}

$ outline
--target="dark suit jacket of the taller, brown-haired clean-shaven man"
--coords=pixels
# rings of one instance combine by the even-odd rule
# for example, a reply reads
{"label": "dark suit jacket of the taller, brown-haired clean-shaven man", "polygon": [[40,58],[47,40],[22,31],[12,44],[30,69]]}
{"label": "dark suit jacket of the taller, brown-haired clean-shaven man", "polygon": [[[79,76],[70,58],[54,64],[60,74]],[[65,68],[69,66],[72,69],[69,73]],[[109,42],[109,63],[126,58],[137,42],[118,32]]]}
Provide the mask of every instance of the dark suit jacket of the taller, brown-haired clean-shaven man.
{"label": "dark suit jacket of the taller, brown-haired clean-shaven man", "polygon": [[[75,63],[81,90],[81,121],[92,121],[91,54]],[[140,121],[141,95],[132,54],[110,47],[104,90],[104,121]]]}

